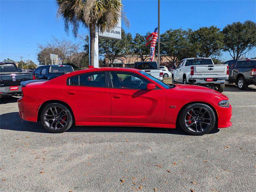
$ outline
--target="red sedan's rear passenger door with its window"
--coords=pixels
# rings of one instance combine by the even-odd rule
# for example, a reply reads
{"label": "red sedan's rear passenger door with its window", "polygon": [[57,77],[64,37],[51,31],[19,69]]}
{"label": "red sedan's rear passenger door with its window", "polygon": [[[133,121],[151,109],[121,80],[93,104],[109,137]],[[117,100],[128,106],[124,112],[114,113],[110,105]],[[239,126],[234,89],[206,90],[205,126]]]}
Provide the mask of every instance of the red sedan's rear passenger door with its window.
{"label": "red sedan's rear passenger door with its window", "polygon": [[90,72],[68,78],[64,94],[73,110],[76,125],[110,122],[111,101],[106,72]]}

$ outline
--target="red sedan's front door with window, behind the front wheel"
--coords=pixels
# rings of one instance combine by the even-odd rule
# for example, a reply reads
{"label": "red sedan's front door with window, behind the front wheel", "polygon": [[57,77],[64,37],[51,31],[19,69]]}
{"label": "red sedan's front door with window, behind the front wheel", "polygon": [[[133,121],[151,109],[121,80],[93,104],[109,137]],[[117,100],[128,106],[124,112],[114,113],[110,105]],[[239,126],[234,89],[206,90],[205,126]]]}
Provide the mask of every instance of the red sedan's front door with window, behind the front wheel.
{"label": "red sedan's front door with window, behind the front wheel", "polygon": [[147,90],[150,82],[133,72],[109,72],[111,121],[130,123],[163,123],[166,98],[160,88]]}

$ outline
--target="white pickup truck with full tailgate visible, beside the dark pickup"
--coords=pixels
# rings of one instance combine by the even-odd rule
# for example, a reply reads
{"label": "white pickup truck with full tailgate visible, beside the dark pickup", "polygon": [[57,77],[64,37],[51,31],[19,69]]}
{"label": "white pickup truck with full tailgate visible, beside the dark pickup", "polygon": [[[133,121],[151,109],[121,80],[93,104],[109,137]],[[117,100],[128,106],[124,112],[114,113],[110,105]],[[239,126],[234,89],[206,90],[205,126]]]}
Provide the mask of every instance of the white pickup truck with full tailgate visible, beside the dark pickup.
{"label": "white pickup truck with full tailgate visible, beside the dark pickup", "polygon": [[172,83],[212,86],[223,92],[228,80],[228,65],[214,65],[211,58],[186,58],[173,68]]}

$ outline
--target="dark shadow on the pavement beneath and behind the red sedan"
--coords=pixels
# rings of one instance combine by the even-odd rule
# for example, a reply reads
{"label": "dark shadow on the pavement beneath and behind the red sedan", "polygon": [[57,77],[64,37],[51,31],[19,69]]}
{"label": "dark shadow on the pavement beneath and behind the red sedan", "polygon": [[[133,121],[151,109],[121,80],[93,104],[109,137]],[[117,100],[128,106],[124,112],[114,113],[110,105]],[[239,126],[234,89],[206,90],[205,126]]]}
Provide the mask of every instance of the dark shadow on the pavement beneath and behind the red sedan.
{"label": "dark shadow on the pavement beneath and behind the red sedan", "polygon": [[[0,115],[0,129],[13,131],[28,131],[38,133],[50,133],[43,128],[40,122],[29,122],[22,120],[18,112],[5,113]],[[187,135],[181,130],[150,127],[113,127],[113,126],[72,126],[67,132],[138,132],[158,134]],[[219,132],[219,129],[212,130],[209,134]]]}

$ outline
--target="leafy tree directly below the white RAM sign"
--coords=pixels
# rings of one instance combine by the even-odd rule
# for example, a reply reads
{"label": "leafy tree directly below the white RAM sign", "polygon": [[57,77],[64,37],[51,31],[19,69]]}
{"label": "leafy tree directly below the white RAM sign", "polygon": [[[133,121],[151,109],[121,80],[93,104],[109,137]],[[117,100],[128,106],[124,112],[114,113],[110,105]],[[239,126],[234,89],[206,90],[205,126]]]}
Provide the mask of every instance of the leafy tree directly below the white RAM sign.
{"label": "leafy tree directly below the white RAM sign", "polygon": [[122,40],[99,38],[99,54],[108,58],[108,63],[113,66],[114,60],[120,55],[124,54],[126,47],[126,34],[122,29]]}

